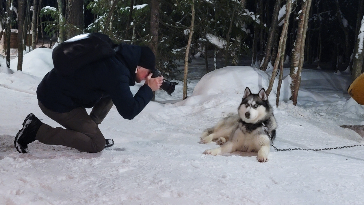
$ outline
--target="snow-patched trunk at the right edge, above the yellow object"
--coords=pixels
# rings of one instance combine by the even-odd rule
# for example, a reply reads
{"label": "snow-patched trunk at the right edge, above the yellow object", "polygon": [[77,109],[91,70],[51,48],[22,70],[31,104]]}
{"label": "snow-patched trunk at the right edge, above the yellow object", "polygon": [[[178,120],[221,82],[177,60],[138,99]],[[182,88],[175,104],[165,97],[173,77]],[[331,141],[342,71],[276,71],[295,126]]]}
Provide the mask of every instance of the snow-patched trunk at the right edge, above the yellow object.
{"label": "snow-patched trunk at the right edge, above the yellow object", "polygon": [[361,70],[363,67],[363,46],[364,46],[364,16],[361,20],[361,26],[359,29],[359,34],[357,38],[357,51],[356,55],[354,56],[354,64],[353,64],[353,74],[352,74],[352,80],[354,81],[357,76],[361,74]]}

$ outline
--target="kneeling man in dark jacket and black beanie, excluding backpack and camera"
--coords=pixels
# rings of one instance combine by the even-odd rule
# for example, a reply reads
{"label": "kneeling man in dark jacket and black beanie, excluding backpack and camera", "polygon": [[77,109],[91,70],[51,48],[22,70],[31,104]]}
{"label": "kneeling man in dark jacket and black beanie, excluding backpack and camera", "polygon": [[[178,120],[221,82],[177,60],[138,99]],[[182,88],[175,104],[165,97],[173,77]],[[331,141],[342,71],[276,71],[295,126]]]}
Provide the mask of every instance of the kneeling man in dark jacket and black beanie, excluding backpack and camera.
{"label": "kneeling man in dark jacket and black beanie, excluding backpack and camera", "polygon": [[[115,104],[125,119],[133,119],[159,89],[163,76],[151,78],[155,55],[148,47],[120,44],[116,55],[97,60],[64,74],[60,68],[48,72],[37,88],[40,109],[65,127],[51,127],[29,114],[14,141],[16,150],[27,153],[28,144],[38,140],[97,153],[114,144],[105,139],[98,125]],[[129,86],[145,84],[135,96]],[[90,115],[85,108],[92,108]]]}

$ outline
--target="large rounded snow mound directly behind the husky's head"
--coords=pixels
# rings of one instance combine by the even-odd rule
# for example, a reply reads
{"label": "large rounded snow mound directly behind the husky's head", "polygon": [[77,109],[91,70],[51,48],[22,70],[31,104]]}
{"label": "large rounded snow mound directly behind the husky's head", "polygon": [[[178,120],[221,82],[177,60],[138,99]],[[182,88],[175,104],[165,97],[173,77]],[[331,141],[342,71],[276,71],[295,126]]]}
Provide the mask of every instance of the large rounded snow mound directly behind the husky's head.
{"label": "large rounded snow mound directly behind the husky's head", "polygon": [[[268,88],[270,75],[262,70],[250,66],[227,66],[211,71],[204,75],[196,84],[192,96],[177,102],[174,106],[193,106],[202,104],[210,107],[209,104],[237,107],[241,102],[244,90],[249,87],[252,93],[258,93],[261,88]],[[268,97],[271,105],[276,102],[276,87],[278,80],[273,85],[273,90]],[[284,94],[284,82],[282,91]],[[234,105],[232,105],[234,102]]]}

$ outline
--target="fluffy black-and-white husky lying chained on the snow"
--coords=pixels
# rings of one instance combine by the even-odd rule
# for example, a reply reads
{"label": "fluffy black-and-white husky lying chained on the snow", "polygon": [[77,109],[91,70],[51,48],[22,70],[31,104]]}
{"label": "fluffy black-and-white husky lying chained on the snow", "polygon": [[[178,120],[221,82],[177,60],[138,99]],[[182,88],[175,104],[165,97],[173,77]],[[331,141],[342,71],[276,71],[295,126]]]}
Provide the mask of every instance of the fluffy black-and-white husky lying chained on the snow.
{"label": "fluffy black-and-white husky lying chained on the snow", "polygon": [[217,125],[203,132],[201,142],[217,140],[221,145],[215,149],[208,149],[203,154],[258,152],[258,161],[266,162],[270,142],[276,137],[276,129],[276,118],[264,88],[258,94],[252,94],[246,87],[238,114],[223,118]]}

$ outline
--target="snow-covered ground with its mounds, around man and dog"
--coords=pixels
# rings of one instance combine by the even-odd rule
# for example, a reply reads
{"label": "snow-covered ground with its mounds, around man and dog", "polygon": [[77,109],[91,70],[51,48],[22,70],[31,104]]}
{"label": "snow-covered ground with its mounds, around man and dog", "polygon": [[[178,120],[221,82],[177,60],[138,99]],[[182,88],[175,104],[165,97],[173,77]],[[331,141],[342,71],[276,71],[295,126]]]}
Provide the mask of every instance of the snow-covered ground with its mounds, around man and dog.
{"label": "snow-covered ground with its mounds, around man and dog", "polygon": [[[317,152],[271,148],[266,163],[248,153],[202,154],[218,147],[201,144],[202,131],[236,112],[246,86],[252,92],[268,86],[269,73],[245,66],[191,80],[190,97],[183,101],[181,84],[173,96],[157,91],[157,102],[131,121],[113,107],[99,127],[115,145],[100,153],[37,141],[29,153],[17,153],[13,140],[27,114],[59,126],[41,112],[35,95],[51,69],[49,52],[38,48],[26,54],[24,73],[10,74],[0,59],[0,204],[363,204],[363,146]],[[363,144],[357,133],[339,127],[364,121],[363,106],[346,93],[349,83],[348,74],[304,70],[299,106],[281,102],[278,108],[273,90],[274,145],[320,149]]]}

